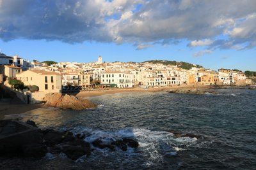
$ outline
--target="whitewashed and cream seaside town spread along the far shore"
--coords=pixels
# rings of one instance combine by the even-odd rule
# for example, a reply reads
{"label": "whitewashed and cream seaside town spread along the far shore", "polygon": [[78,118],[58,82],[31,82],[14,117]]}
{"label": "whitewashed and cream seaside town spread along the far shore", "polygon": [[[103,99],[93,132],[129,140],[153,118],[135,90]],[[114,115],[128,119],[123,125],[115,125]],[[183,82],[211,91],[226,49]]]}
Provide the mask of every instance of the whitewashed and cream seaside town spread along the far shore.
{"label": "whitewashed and cream seaside town spread along the far shore", "polygon": [[[30,103],[42,101],[49,92],[68,92],[101,88],[168,87],[176,85],[250,85],[252,79],[239,70],[213,71],[198,65],[184,69],[179,65],[154,62],[32,62],[18,55],[0,53],[0,83],[33,93]],[[28,88],[27,88],[28,87]],[[31,97],[32,98],[32,97]],[[24,97],[24,101],[28,101]]]}

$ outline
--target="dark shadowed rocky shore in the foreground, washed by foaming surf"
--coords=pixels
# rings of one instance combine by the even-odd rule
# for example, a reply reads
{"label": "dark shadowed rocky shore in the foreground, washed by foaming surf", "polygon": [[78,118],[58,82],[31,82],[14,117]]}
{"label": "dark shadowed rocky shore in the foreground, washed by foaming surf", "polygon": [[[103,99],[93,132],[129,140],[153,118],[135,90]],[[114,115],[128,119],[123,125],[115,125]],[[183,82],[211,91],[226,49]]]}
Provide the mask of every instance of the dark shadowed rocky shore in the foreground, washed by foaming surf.
{"label": "dark shadowed rocky shore in the foreground, washed by foaming surf", "polygon": [[0,156],[29,157],[40,159],[46,153],[65,153],[69,159],[90,156],[93,147],[109,148],[123,151],[127,147],[137,148],[138,141],[132,138],[118,139],[111,143],[104,143],[102,139],[95,139],[92,143],[84,141],[84,134],[73,134],[70,131],[59,132],[54,129],[39,129],[35,122],[26,123],[15,120],[0,121]]}

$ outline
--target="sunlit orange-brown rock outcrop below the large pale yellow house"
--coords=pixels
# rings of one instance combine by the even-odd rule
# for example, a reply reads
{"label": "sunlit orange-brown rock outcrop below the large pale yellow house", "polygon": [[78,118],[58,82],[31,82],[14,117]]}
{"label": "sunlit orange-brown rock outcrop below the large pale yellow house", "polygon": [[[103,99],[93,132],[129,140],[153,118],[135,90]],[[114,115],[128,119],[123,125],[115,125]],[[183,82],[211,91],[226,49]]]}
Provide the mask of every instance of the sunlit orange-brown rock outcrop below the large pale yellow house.
{"label": "sunlit orange-brown rock outcrop below the large pale yellow house", "polygon": [[70,96],[68,94],[62,95],[61,93],[49,93],[44,97],[45,106],[71,109],[71,110],[83,110],[87,108],[96,108],[96,104],[83,98],[77,98],[76,96]]}

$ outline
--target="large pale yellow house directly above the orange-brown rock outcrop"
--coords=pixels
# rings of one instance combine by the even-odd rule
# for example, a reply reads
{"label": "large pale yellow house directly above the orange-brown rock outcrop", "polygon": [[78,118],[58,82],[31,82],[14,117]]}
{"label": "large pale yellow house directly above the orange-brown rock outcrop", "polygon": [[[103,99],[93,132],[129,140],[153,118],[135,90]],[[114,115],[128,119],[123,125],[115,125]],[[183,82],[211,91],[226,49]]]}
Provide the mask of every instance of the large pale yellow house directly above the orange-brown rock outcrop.
{"label": "large pale yellow house directly above the orange-brown rock outcrop", "polygon": [[37,85],[39,92],[61,92],[61,74],[42,70],[28,70],[16,75],[24,85]]}

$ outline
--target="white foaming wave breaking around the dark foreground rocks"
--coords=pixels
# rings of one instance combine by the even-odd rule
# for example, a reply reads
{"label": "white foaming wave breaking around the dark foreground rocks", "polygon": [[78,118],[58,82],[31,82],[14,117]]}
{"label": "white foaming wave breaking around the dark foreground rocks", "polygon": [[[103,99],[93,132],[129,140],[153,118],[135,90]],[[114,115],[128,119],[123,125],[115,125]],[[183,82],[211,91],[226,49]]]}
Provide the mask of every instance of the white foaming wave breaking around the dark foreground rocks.
{"label": "white foaming wave breaking around the dark foreground rocks", "polygon": [[[200,139],[197,138],[176,138],[172,132],[151,131],[149,129],[138,128],[121,129],[118,131],[101,131],[87,127],[76,127],[72,132],[74,132],[74,134],[86,134],[84,141],[89,143],[92,143],[96,139],[102,140],[103,143],[111,143],[112,141],[122,138],[134,138],[138,141],[139,147],[128,147],[126,152],[122,152],[118,148],[114,151],[110,151],[109,148],[99,149],[93,147],[93,145],[91,146],[97,154],[102,154],[104,157],[111,157],[111,155],[116,157],[117,152],[123,156],[126,155],[127,157],[137,155],[145,160],[143,164],[145,167],[156,165],[157,162],[163,163],[164,157],[175,157],[179,155],[179,152],[188,150],[191,147],[198,147],[197,144],[198,142],[200,143]],[[115,153],[114,155],[113,152]],[[94,156],[97,157],[97,154]]]}

